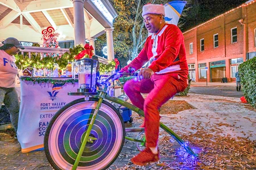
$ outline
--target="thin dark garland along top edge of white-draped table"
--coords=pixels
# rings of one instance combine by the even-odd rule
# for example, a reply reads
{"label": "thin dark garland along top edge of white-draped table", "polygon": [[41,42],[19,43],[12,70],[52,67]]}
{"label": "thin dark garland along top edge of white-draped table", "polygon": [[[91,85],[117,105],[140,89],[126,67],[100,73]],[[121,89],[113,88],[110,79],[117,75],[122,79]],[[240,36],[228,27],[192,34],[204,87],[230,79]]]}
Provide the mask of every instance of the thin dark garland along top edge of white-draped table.
{"label": "thin dark garland along top edge of white-draped table", "polygon": [[52,84],[65,84],[65,83],[72,83],[75,84],[78,82],[78,79],[52,79],[52,78],[37,78],[37,77],[20,77],[21,80],[23,81],[28,81],[28,82],[33,82],[34,84],[37,82],[39,83],[52,83]]}

